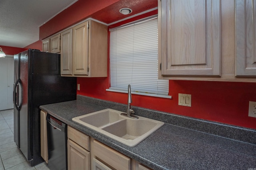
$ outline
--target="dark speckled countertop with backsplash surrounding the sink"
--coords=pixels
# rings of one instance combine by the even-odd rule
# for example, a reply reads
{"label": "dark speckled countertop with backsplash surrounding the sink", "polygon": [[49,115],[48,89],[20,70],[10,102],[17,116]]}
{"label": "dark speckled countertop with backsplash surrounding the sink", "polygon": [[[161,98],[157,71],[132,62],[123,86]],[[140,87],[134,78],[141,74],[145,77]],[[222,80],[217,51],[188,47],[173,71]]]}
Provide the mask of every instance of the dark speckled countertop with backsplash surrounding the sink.
{"label": "dark speckled countertop with backsplash surrounding the sink", "polygon": [[[184,120],[185,122],[197,122],[191,123],[193,124],[190,125],[193,127],[192,129],[165,123],[164,126],[135,147],[128,147],[122,143],[119,143],[118,141],[115,141],[114,139],[106,137],[96,131],[93,131],[92,129],[72,121],[73,117],[106,108],[125,111],[126,105],[78,96],[78,100],[40,106],[40,109],[48,112],[60,121],[63,121],[64,123],[78,129],[79,131],[82,131],[83,133],[93,137],[105,145],[108,145],[109,147],[155,170],[250,170],[250,168],[256,168],[256,131],[254,131],[254,129],[230,127],[217,123],[201,120],[198,121],[188,117],[177,117],[177,115],[170,115],[171,119],[179,119],[179,122],[175,124],[179,124],[180,119]],[[138,115],[146,117],[143,109],[134,107],[134,110],[138,111]],[[146,111],[150,112],[149,110]],[[157,111],[152,112],[154,112],[154,116],[158,115],[156,117],[160,117],[158,120],[164,119],[164,122],[169,122],[169,120],[166,119],[165,113]],[[150,117],[150,115],[147,117]],[[205,123],[211,125],[206,125]],[[188,124],[189,123],[186,123],[186,126],[188,126]],[[226,136],[231,136],[233,139],[229,139],[226,136],[217,136],[219,134],[212,135],[210,133],[194,130],[198,128],[195,127],[194,124],[198,124],[199,127],[205,124],[205,128],[202,129],[211,129],[210,127],[216,128],[216,126],[219,126],[219,128],[213,130],[213,132],[217,131],[216,133],[229,133],[232,131],[233,135],[228,134]],[[234,140],[237,138],[236,136],[241,136],[241,139],[244,137],[248,142]]]}

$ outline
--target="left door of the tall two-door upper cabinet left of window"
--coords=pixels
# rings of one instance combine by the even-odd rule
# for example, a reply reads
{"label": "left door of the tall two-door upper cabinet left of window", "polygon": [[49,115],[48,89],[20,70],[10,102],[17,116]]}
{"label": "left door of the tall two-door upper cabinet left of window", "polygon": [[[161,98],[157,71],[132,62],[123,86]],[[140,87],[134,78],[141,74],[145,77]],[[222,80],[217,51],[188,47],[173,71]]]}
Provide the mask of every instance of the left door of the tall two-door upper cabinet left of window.
{"label": "left door of the tall two-door upper cabinet left of window", "polygon": [[72,29],[60,34],[61,74],[72,75]]}

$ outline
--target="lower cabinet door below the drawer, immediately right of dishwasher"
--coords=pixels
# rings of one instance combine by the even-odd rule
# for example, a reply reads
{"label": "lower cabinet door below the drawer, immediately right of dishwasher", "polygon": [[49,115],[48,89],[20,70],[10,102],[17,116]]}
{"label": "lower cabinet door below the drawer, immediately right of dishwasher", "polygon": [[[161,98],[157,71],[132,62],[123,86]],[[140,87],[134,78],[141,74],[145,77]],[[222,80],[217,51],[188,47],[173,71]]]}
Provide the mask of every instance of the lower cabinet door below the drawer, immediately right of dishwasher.
{"label": "lower cabinet door below the drawer, immediately right of dishwasher", "polygon": [[89,170],[90,152],[68,139],[68,170]]}

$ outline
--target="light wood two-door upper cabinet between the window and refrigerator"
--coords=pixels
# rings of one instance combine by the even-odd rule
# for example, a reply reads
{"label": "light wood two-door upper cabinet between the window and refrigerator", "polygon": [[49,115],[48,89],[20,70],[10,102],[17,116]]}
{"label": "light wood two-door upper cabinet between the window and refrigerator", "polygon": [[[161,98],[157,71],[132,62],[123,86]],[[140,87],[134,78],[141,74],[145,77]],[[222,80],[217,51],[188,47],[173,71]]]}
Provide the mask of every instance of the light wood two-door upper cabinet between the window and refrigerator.
{"label": "light wood two-door upper cabinet between the window and refrigerator", "polygon": [[[72,27],[72,30],[65,31],[62,36],[64,38],[61,40],[62,76],[107,76],[108,30],[106,25],[88,20]],[[70,49],[71,39],[72,49]]]}

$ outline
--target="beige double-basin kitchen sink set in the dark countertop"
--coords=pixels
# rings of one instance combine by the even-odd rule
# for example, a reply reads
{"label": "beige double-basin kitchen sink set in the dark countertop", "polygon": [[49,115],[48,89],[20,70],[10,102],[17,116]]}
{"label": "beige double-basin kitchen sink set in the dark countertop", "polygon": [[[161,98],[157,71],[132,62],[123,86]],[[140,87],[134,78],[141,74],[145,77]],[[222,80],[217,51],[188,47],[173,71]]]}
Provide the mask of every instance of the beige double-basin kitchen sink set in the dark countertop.
{"label": "beige double-basin kitchen sink set in the dark countertop", "polygon": [[124,112],[104,109],[74,117],[72,120],[130,147],[138,145],[164,125],[161,121],[141,116],[138,116],[139,119],[132,119],[122,116],[121,113]]}

